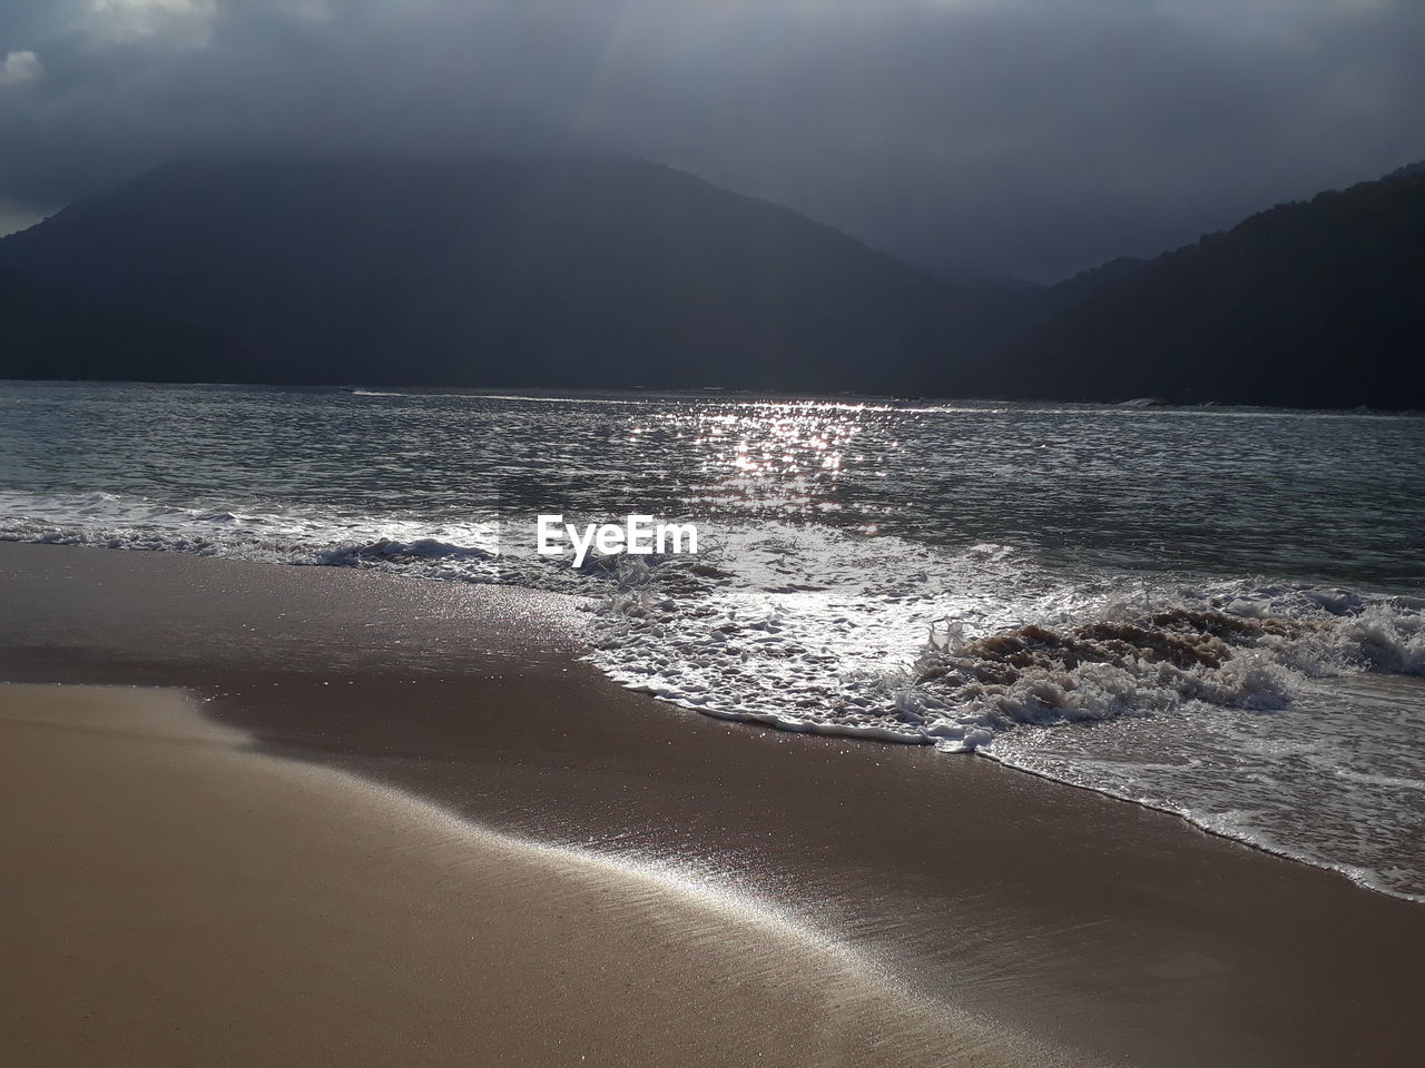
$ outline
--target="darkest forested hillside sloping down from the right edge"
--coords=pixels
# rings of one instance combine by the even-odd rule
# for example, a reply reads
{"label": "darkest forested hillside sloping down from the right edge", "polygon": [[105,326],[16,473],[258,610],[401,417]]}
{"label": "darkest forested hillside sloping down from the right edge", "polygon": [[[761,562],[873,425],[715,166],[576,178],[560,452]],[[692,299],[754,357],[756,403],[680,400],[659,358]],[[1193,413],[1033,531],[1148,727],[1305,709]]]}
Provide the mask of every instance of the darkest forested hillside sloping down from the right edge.
{"label": "darkest forested hillside sloping down from the right edge", "polygon": [[1425,168],[1060,283],[990,393],[1425,407]]}

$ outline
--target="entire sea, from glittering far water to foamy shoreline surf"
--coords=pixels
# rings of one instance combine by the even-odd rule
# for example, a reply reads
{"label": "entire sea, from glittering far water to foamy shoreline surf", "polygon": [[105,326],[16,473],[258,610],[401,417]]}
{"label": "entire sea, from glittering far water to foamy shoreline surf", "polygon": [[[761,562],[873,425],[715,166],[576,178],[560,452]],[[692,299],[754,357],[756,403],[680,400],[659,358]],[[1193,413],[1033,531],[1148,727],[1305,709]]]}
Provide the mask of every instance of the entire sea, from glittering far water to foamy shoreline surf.
{"label": "entire sea, from glittering far water to foamy shoreline surf", "polygon": [[[574,568],[539,513],[700,553]],[[1425,901],[1422,417],[0,383],[0,538],[579,594],[594,662],[670,703]]]}

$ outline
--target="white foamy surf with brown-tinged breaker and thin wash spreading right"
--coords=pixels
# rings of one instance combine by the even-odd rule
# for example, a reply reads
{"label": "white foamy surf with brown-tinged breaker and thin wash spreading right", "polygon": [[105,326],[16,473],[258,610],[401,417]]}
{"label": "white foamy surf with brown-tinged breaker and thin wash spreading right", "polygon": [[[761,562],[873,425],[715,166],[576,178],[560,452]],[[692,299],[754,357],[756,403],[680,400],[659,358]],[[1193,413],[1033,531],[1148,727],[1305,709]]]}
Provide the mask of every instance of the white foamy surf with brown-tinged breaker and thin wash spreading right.
{"label": "white foamy surf with brown-tinged breaker and thin wash spreading right", "polygon": [[[750,590],[747,550],[715,580],[627,568],[594,661],[705,715],[979,753],[1425,901],[1419,598],[1149,588],[995,545],[923,570],[893,541],[869,560],[801,541],[802,564],[828,561],[821,584],[782,545],[775,581],[795,592],[772,597]],[[846,567],[861,582],[842,597],[826,571]]]}

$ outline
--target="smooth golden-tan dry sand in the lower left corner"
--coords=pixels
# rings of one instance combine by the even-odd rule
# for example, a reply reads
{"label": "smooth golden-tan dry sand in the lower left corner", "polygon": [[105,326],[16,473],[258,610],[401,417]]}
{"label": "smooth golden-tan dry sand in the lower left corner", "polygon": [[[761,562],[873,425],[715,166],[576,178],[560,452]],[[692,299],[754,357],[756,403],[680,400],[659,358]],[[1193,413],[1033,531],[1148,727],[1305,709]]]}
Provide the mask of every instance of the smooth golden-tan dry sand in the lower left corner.
{"label": "smooth golden-tan dry sand in the lower left corner", "polygon": [[775,913],[242,740],[0,686],[6,1065],[1010,1062]]}

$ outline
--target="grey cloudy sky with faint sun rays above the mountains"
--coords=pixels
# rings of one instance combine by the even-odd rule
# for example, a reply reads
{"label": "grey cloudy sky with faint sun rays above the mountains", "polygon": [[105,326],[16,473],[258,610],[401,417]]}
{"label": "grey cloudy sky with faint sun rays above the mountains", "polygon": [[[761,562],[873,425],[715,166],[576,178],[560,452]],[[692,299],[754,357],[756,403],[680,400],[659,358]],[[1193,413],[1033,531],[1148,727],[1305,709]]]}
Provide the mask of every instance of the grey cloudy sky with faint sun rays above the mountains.
{"label": "grey cloudy sky with faint sun rays above the mountains", "polygon": [[194,154],[618,152],[1053,281],[1425,159],[1422,0],[0,0],[0,232]]}

